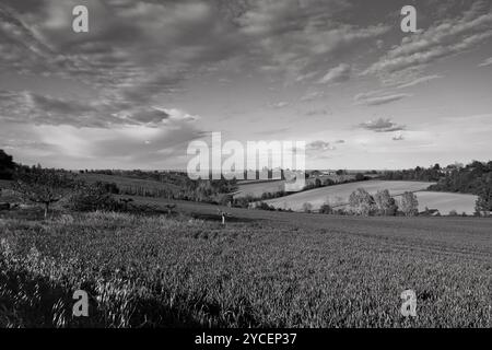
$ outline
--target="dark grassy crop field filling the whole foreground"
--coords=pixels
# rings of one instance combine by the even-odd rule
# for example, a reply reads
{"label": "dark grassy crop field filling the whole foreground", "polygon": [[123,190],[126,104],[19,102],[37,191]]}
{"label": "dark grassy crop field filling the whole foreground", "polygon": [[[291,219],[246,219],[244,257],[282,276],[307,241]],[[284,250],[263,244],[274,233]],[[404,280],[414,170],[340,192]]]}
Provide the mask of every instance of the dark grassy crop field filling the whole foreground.
{"label": "dark grassy crop field filling the whole foreground", "polygon": [[0,219],[0,327],[492,326],[490,219],[177,208]]}

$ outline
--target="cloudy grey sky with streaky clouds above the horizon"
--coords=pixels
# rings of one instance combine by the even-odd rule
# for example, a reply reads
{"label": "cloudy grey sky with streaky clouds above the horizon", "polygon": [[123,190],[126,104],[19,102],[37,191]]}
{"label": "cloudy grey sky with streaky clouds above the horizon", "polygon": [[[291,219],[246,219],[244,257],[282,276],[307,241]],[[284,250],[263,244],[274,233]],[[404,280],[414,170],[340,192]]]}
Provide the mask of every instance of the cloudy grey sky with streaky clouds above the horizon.
{"label": "cloudy grey sky with streaky clouds above the horizon", "polygon": [[489,161],[491,44],[488,0],[0,0],[0,149],[186,168],[221,132],[305,141],[308,168]]}

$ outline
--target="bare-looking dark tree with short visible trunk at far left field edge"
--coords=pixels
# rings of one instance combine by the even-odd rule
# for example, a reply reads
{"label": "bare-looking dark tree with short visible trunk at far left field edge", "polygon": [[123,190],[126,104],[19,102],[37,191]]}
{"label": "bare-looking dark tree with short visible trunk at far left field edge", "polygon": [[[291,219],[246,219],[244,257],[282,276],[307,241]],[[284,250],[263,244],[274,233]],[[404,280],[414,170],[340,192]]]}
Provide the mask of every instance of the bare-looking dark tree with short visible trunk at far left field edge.
{"label": "bare-looking dark tree with short visible trunk at far left field edge", "polygon": [[15,177],[14,190],[34,203],[44,205],[45,218],[49,206],[70,194],[75,185],[67,174],[40,167],[19,172]]}

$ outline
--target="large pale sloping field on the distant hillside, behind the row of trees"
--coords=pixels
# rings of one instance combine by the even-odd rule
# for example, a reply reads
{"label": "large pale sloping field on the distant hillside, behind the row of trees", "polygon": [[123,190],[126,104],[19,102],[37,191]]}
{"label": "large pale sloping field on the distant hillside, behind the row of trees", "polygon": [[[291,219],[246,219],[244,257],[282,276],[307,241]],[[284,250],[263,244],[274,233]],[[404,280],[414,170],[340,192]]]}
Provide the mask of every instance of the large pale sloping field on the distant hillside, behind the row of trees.
{"label": "large pale sloping field on the distant hillside, behind the row of trees", "polygon": [[397,196],[405,191],[424,190],[432,184],[425,182],[366,180],[315,188],[286,197],[266,200],[265,202],[276,208],[290,208],[294,211],[302,210],[303,203],[309,202],[313,205],[313,209],[316,210],[327,201],[332,206],[348,203],[350,194],[360,187],[365,188],[371,195],[380,189],[388,189],[391,196]]}

